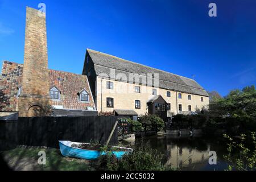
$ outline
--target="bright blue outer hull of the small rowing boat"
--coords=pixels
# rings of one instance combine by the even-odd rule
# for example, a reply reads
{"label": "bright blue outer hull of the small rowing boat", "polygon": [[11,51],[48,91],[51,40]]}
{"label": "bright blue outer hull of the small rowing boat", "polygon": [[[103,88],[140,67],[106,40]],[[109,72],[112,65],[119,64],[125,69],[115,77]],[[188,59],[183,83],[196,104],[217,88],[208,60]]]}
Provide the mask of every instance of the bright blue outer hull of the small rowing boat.
{"label": "bright blue outer hull of the small rowing boat", "polygon": [[[69,142],[69,141],[59,141],[60,152],[65,157],[95,160],[100,155],[106,154],[106,152],[101,152],[96,150],[85,150],[81,148],[71,147],[71,146],[68,146],[65,142]],[[113,151],[112,153],[119,159],[127,152],[131,152],[131,151]]]}

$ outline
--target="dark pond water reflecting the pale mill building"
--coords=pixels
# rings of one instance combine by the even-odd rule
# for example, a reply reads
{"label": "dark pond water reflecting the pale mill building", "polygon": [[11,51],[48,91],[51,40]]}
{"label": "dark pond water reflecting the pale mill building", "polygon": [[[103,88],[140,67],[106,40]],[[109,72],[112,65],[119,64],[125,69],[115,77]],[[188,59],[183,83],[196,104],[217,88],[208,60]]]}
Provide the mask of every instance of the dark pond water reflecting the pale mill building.
{"label": "dark pond water reflecting the pale mill building", "polygon": [[[164,164],[181,170],[224,170],[228,167],[223,159],[227,146],[222,138],[154,135],[122,143],[131,147],[149,145],[163,155]],[[216,152],[217,164],[209,164],[209,151]]]}

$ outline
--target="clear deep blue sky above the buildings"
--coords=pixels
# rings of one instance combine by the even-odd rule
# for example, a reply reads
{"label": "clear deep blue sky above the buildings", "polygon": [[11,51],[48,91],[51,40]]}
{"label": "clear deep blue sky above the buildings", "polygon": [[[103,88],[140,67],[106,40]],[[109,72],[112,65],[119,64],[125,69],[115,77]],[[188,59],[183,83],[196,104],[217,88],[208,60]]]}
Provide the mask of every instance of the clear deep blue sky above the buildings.
{"label": "clear deep blue sky above the buildings", "polygon": [[[23,63],[26,6],[46,4],[50,69],[81,73],[86,48],[195,80],[222,96],[256,82],[254,0],[0,0],[0,60]],[[208,16],[210,2],[217,17]]]}

